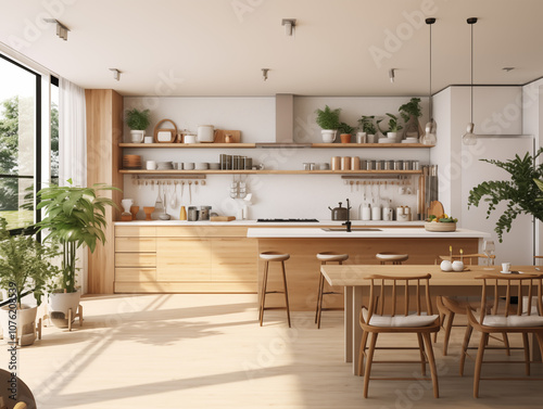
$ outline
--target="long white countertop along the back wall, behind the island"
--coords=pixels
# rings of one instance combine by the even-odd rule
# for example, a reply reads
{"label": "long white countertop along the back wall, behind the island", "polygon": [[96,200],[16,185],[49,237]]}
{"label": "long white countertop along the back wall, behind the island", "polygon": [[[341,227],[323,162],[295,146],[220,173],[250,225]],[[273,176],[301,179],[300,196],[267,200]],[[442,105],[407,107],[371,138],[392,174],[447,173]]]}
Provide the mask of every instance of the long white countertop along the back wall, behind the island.
{"label": "long white countertop along the back wall, behind the island", "polygon": [[[390,226],[390,227],[404,227],[404,226],[417,226],[422,227],[425,221],[363,221],[363,220],[351,220],[353,227],[371,227],[371,226]],[[250,226],[258,228],[267,228],[269,226],[280,227],[280,226],[311,226],[316,225],[321,226],[338,226],[344,221],[337,220],[319,220],[311,222],[262,222],[256,220],[232,220],[232,221],[187,221],[187,220],[134,220],[134,221],[115,221],[115,226]]]}

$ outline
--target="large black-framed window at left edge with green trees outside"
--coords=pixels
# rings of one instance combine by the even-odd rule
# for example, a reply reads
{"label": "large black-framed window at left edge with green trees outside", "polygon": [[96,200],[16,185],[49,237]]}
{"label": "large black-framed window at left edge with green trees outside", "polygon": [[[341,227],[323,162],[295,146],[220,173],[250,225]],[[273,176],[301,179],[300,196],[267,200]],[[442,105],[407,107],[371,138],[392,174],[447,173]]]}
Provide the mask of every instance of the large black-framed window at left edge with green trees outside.
{"label": "large black-framed window at left edge with green trees outside", "polygon": [[39,181],[41,76],[0,54],[0,217],[9,229],[35,221]]}

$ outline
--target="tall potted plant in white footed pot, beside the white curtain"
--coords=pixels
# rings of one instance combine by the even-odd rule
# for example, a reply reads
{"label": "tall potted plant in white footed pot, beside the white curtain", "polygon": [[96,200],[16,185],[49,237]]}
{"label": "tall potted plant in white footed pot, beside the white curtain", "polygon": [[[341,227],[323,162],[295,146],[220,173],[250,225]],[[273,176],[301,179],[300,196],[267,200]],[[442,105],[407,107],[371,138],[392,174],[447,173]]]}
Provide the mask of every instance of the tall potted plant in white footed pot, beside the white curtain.
{"label": "tall potted plant in white footed pot, beside the white curtain", "polygon": [[75,279],[76,250],[87,245],[93,253],[98,242],[105,243],[106,206],[118,208],[111,199],[98,195],[99,191],[117,188],[105,184],[79,188],[72,184],[72,179],[67,182],[66,187],[51,186],[37,193],[40,199],[38,209],[46,212],[46,217],[37,226],[39,230],[47,230],[45,241],[55,240],[62,247],[61,289],[49,294],[49,310],[51,316],[56,312],[53,323],[59,327],[71,327],[68,312],[72,310],[74,316],[79,305],[80,292]]}

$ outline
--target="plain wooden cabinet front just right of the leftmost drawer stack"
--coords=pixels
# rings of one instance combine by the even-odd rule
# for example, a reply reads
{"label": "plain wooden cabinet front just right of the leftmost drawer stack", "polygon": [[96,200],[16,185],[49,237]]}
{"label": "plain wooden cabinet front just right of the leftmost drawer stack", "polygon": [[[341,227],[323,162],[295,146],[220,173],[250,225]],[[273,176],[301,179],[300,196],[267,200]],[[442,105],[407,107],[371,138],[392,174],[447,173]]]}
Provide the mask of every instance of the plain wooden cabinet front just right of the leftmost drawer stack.
{"label": "plain wooden cabinet front just right of the leftmost drawer stack", "polygon": [[211,281],[211,242],[159,238],[156,279],[160,281]]}

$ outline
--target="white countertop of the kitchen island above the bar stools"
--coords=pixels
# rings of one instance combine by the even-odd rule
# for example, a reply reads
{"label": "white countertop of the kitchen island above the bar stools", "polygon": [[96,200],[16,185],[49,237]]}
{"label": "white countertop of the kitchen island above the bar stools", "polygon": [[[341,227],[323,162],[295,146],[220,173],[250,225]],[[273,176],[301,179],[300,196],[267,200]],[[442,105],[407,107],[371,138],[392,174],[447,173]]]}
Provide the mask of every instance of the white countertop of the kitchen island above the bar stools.
{"label": "white countertop of the kitchen island above the bar stools", "polygon": [[482,239],[490,238],[490,233],[482,231],[475,231],[468,229],[456,229],[452,232],[431,232],[420,228],[383,228],[379,231],[324,231],[319,228],[306,229],[248,229],[248,238],[258,239],[300,239],[300,238],[315,238],[315,239],[349,239],[349,238],[416,238],[416,239],[451,239],[451,238],[473,238]]}

